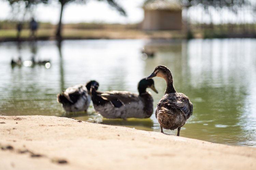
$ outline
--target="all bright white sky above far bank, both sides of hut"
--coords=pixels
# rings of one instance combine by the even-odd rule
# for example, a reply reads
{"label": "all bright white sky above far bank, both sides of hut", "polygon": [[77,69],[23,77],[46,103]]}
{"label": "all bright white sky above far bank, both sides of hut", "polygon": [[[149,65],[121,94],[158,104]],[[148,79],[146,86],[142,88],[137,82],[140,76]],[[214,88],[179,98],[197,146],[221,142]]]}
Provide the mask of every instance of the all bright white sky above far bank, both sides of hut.
{"label": "all bright white sky above far bank, both sides of hut", "polygon": [[[63,23],[79,23],[79,22],[103,22],[103,23],[139,23],[144,18],[144,12],[141,8],[144,0],[117,0],[117,2],[127,12],[127,17],[121,16],[115,9],[113,9],[105,1],[99,2],[97,0],[87,0],[85,4],[70,3],[65,5],[63,11],[62,22]],[[254,6],[256,6],[256,0],[252,0]],[[23,18],[18,13],[13,14],[8,2],[0,0],[0,20]],[[211,9],[210,9],[211,10]],[[230,22],[237,23],[242,20],[246,22],[255,22],[256,16],[251,15],[248,12],[238,12],[238,15],[234,15],[230,11],[223,8],[222,13],[213,10],[214,23]],[[50,4],[39,4],[34,11],[34,18],[41,22],[51,22],[56,24],[59,19],[60,4],[57,0],[52,0]],[[202,12],[202,8],[192,7],[190,8],[189,15],[192,21],[203,21],[209,23],[209,15]],[[18,16],[18,17],[17,17]],[[30,17],[27,17],[29,20]],[[20,19],[19,19],[20,20]]]}

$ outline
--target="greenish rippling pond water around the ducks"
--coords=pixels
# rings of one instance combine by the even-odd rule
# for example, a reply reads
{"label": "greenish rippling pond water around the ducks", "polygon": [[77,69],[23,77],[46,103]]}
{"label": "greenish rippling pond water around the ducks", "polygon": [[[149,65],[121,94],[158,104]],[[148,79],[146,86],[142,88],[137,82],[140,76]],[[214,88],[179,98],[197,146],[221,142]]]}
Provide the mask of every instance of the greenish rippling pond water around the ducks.
{"label": "greenish rippling pond water around the ducks", "polygon": [[[65,40],[0,43],[0,114],[73,117],[95,123],[160,132],[148,119],[105,119],[90,105],[87,113],[65,114],[56,95],[75,84],[97,80],[99,90],[137,93],[140,79],[157,65],[172,71],[174,86],[194,104],[181,136],[227,145],[256,147],[256,39]],[[142,55],[142,48],[154,51]],[[11,60],[51,60],[51,67],[11,66]],[[154,107],[166,83],[154,78]],[[176,135],[175,131],[164,130]]]}

